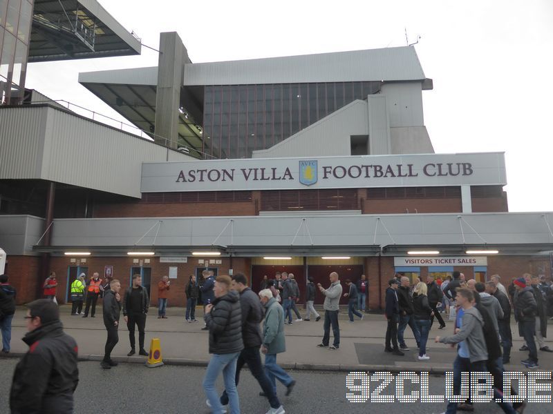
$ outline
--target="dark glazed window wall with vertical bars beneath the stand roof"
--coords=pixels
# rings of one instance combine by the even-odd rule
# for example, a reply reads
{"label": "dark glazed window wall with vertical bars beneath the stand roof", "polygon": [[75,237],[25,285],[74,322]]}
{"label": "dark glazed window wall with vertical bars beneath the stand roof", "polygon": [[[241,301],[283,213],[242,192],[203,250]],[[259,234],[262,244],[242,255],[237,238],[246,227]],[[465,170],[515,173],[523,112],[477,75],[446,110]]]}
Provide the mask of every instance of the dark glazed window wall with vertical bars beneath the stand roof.
{"label": "dark glazed window wall with vertical bars beneath the stand roof", "polygon": [[205,86],[203,152],[250,158],[379,90],[380,82]]}

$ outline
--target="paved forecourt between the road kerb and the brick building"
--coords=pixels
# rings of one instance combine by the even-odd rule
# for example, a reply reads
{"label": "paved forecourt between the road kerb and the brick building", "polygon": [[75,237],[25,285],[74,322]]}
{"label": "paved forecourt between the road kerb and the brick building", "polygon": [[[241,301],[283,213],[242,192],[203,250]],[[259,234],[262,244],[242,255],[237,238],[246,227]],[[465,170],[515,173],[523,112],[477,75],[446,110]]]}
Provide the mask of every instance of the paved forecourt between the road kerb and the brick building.
{"label": "paved forecourt between the road kerb and the brick building", "polygon": [[[106,342],[106,329],[102,319],[102,306],[97,306],[95,318],[83,318],[71,315],[71,306],[60,306],[60,317],[68,335],[77,341],[79,358],[81,360],[99,361],[103,357]],[[321,316],[323,312],[317,309]],[[300,312],[304,314],[303,309]],[[200,322],[187,323],[183,308],[168,308],[167,319],[158,319],[157,308],[150,308],[146,322],[145,348],[149,350],[152,338],[159,338],[162,348],[162,358],[165,364],[205,366],[209,361],[208,334],[202,331],[203,317],[200,307],[196,310],[196,318]],[[18,307],[12,322],[11,352],[8,356],[19,357],[28,351],[28,346],[21,341],[26,333],[26,308]],[[144,363],[146,357],[127,357],[129,352],[129,336],[126,325],[121,318],[119,329],[119,343],[113,349],[112,357],[118,362]],[[549,321],[550,325],[552,321]],[[340,348],[330,351],[327,348],[318,348],[323,335],[323,319],[315,322],[294,322],[285,326],[286,349],[278,355],[278,362],[287,369],[312,371],[428,371],[434,374],[443,374],[451,371],[456,350],[444,344],[435,344],[437,335],[451,335],[453,325],[446,320],[447,327],[438,330],[435,323],[429,335],[427,355],[430,359],[420,362],[417,348],[406,351],[403,357],[384,352],[384,336],[386,334],[386,320],[384,315],[366,314],[363,320],[355,318],[354,323],[348,322],[347,312],[340,312]],[[553,326],[549,329],[553,332]],[[511,363],[505,365],[507,371],[527,371],[520,361],[526,359],[527,352],[518,351],[523,344],[518,337],[518,328],[512,324],[514,344],[511,354]],[[138,332],[135,332],[138,341]],[[406,344],[415,346],[413,333],[409,326],[405,331]],[[332,341],[332,332],[331,339]],[[332,342],[331,342],[332,343]],[[553,348],[553,341],[547,341]],[[137,344],[138,345],[138,344]],[[137,349],[138,351],[138,349]],[[553,353],[538,351],[539,369],[553,371]]]}

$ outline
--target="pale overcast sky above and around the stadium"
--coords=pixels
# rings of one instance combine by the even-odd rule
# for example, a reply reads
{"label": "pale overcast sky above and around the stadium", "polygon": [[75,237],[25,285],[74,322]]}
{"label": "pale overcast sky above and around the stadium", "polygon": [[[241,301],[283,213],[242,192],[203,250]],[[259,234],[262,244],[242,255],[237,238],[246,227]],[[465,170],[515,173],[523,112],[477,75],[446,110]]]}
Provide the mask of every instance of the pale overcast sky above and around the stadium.
{"label": "pale overcast sky above and around the stadium", "polygon": [[[553,1],[100,1],[142,43],[177,31],[194,63],[405,46],[423,91],[435,152],[505,151],[511,211],[552,211]],[[27,88],[120,116],[79,72],[157,66],[158,54],[32,63]]]}

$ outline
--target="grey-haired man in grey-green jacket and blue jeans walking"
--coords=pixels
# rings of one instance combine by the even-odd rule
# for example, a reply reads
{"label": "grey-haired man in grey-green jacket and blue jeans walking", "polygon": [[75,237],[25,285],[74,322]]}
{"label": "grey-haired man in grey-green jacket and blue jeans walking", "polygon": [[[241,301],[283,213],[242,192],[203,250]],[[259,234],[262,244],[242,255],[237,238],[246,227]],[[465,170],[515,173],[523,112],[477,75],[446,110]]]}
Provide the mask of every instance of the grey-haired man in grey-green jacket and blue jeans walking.
{"label": "grey-haired man in grey-green jacket and blue jeans walking", "polygon": [[[286,387],[286,395],[290,395],[296,380],[277,364],[277,354],[286,351],[286,339],[284,336],[284,310],[274,299],[269,289],[259,292],[259,300],[265,307],[265,320],[263,321],[263,345],[261,352],[265,354],[265,373],[272,384],[274,394],[277,394],[277,380]],[[268,411],[268,414],[270,411]],[[279,411],[276,411],[279,413]]]}

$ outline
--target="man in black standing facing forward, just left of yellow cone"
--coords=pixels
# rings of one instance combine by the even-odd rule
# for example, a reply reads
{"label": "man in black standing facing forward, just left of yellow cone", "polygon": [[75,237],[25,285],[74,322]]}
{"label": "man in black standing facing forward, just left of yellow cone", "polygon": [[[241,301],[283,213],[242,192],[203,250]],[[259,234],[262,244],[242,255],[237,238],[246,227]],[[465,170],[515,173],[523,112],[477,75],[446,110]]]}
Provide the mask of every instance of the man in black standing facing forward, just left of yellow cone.
{"label": "man in black standing facing forward, just left of yellow cone", "polygon": [[144,329],[146,328],[146,316],[150,307],[148,292],[144,286],[140,286],[140,275],[133,275],[133,285],[125,291],[123,301],[123,315],[126,327],[129,328],[129,341],[131,342],[131,351],[129,357],[135,354],[134,326],[138,326],[138,344],[140,346],[139,355],[148,356],[144,349]]}

